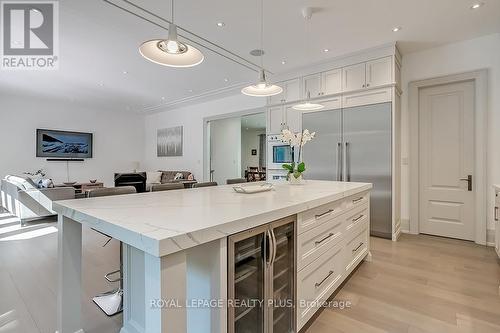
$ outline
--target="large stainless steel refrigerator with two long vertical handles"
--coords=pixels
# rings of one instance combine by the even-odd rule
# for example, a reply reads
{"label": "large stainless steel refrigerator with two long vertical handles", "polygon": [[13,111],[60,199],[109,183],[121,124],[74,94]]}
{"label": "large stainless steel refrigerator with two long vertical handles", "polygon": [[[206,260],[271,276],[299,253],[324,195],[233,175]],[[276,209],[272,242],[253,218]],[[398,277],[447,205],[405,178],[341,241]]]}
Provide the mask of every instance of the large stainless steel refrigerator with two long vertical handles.
{"label": "large stainless steel refrigerator with two long vertical handles", "polygon": [[373,183],[370,233],[392,238],[391,103],[304,113],[308,179]]}

